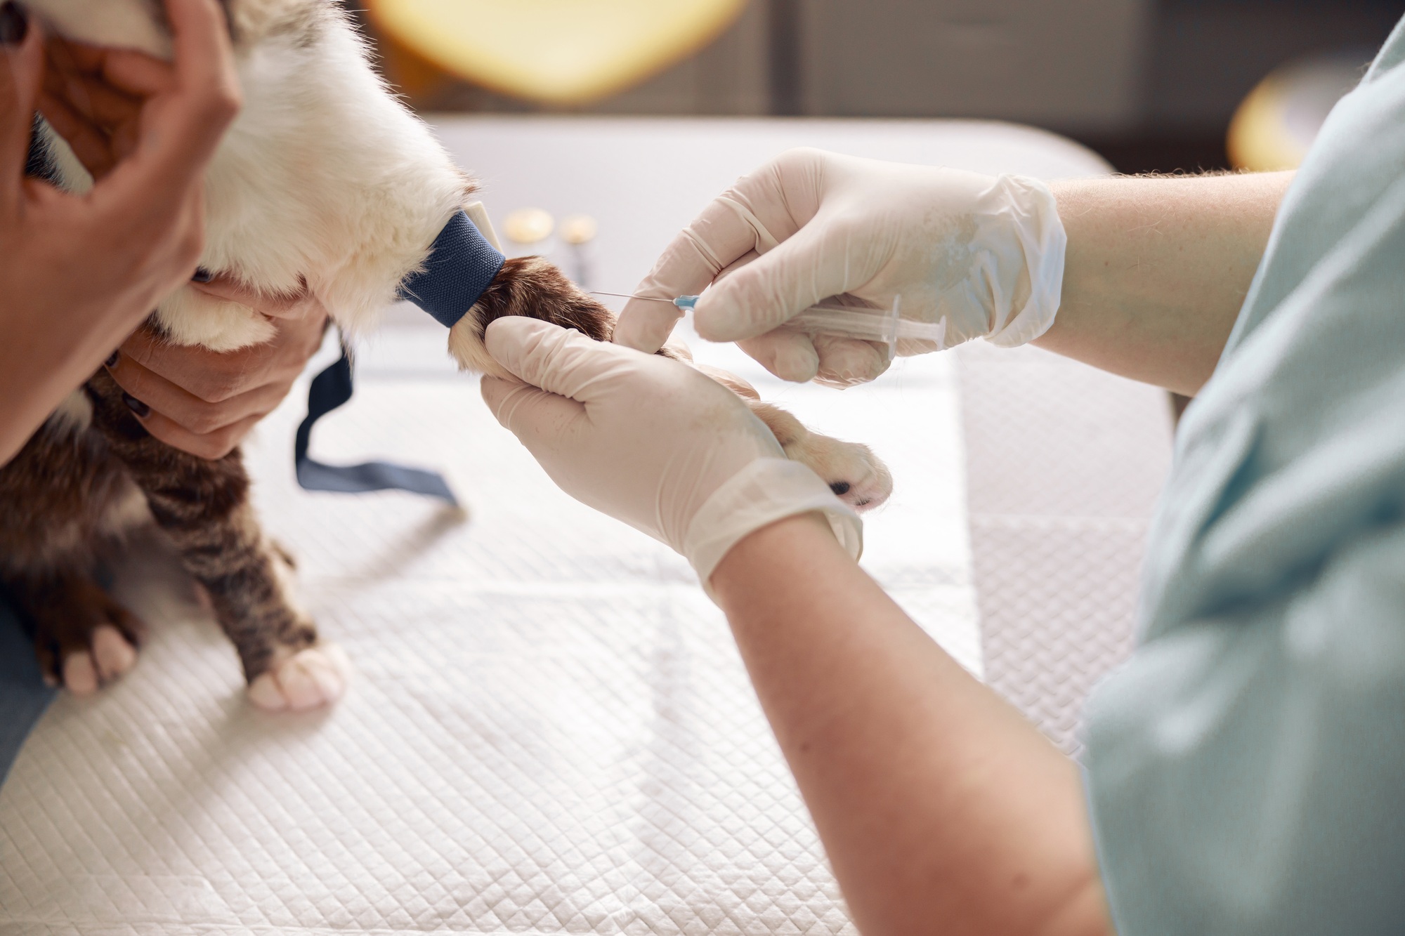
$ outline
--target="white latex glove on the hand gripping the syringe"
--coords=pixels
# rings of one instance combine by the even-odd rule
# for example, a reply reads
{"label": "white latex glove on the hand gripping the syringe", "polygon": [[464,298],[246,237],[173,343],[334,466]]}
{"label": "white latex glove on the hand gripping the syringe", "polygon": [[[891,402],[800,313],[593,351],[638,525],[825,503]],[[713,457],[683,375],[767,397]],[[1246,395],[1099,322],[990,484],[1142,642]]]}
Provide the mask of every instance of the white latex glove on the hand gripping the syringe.
{"label": "white latex glove on the hand gripping the syringe", "polygon": [[[708,205],[635,292],[701,292],[704,339],[736,342],[784,379],[846,386],[887,370],[887,346],[777,326],[826,297],[888,309],[901,295],[902,318],[947,327],[940,347],[903,340],[899,354],[1023,344],[1054,323],[1065,243],[1037,180],[792,149]],[[632,299],[614,340],[655,351],[677,315]]]}

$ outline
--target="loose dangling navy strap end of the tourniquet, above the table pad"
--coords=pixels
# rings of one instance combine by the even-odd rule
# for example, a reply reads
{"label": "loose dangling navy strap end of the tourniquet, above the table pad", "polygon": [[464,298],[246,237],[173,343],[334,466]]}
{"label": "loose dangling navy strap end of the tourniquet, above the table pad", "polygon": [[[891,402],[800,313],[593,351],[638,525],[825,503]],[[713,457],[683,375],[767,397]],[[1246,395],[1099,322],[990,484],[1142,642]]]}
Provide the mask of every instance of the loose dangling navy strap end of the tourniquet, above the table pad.
{"label": "loose dangling navy strap end of the tourniquet, above the table pad", "polygon": [[458,498],[450,490],[444,475],[420,468],[392,465],[385,461],[368,461],[362,465],[323,465],[308,457],[312,441],[312,424],[351,399],[351,357],[346,346],[341,357],[327,370],[312,378],[308,391],[308,417],[298,426],[292,460],[298,471],[298,483],[308,490],[340,490],[361,493],[365,490],[409,490],[430,498],[440,498],[458,506]]}

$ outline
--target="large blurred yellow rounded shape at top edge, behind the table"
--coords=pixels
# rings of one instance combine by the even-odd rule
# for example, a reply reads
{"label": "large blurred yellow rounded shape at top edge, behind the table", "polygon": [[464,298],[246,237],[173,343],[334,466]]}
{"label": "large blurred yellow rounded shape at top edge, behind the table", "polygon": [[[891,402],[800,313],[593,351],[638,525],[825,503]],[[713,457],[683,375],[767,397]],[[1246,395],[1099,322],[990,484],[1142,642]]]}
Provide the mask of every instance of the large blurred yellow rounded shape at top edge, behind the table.
{"label": "large blurred yellow rounded shape at top edge, behind the table", "polygon": [[462,79],[583,104],[697,52],[746,0],[371,0],[377,27]]}

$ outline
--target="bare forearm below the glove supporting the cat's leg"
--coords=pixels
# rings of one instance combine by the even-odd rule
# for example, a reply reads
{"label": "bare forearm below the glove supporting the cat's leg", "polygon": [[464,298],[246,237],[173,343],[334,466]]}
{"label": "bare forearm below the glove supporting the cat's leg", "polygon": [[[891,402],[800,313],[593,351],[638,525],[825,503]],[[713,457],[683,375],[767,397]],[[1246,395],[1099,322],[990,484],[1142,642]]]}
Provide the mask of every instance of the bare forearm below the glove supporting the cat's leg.
{"label": "bare forearm below the glove supporting the cat's leg", "polygon": [[1073,763],[822,521],[753,533],[712,586],[867,936],[1107,932]]}

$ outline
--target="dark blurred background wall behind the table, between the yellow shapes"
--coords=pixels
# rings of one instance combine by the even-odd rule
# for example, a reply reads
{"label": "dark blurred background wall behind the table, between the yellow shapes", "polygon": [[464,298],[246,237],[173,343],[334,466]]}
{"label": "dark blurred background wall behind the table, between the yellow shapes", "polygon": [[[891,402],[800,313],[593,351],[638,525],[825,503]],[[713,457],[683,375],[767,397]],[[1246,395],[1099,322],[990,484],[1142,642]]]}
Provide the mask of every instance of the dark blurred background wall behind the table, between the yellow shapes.
{"label": "dark blurred background wall behind the table, between the yellow shapes", "polygon": [[[753,0],[697,56],[580,108],[611,114],[988,117],[1055,129],[1124,171],[1215,169],[1270,69],[1359,48],[1405,0]],[[535,111],[464,83],[424,110]]]}

